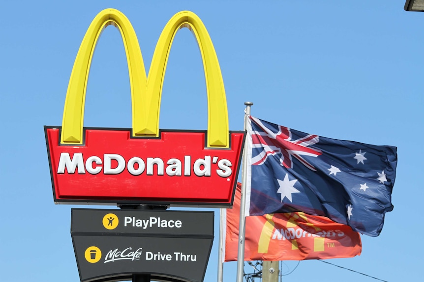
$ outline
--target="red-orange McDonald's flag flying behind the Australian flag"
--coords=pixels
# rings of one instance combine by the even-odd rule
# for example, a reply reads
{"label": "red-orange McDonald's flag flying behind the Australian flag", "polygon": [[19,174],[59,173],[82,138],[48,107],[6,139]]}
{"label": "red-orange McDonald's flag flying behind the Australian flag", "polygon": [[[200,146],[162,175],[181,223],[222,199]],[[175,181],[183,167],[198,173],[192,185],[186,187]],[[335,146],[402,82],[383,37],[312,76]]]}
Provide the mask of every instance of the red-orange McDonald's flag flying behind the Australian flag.
{"label": "red-orange McDonald's flag flying behind the Australian flag", "polygon": [[[226,210],[225,261],[237,260],[241,184],[233,209]],[[244,260],[302,260],[359,256],[358,232],[303,212],[246,217]]]}

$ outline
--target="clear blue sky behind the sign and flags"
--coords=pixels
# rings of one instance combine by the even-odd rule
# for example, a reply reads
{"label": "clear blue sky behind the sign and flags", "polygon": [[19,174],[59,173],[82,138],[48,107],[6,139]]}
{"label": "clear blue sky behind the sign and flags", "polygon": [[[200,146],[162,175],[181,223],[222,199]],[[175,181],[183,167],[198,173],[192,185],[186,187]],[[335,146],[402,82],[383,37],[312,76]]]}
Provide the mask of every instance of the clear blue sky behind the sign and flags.
{"label": "clear blue sky behind the sign and flags", "polygon": [[[252,101],[252,115],[273,123],[326,137],[397,146],[394,210],[386,214],[381,235],[362,236],[361,256],[329,262],[386,281],[420,280],[424,13],[405,12],[404,3],[3,0],[2,279],[79,279],[69,232],[73,206],[53,202],[43,126],[61,125],[81,40],[94,16],[112,7],[134,26],[147,68],[172,15],[191,10],[202,19],[220,62],[232,130],[242,129],[243,103]],[[93,57],[85,126],[129,128],[130,105],[125,53],[118,30],[110,26]],[[171,50],[160,128],[207,128],[203,67],[188,29],[179,31]],[[208,282],[216,281],[217,237],[216,233]],[[283,272],[296,264],[285,261]],[[235,281],[235,273],[236,263],[225,263],[224,281]],[[285,279],[375,281],[316,260],[301,261]]]}

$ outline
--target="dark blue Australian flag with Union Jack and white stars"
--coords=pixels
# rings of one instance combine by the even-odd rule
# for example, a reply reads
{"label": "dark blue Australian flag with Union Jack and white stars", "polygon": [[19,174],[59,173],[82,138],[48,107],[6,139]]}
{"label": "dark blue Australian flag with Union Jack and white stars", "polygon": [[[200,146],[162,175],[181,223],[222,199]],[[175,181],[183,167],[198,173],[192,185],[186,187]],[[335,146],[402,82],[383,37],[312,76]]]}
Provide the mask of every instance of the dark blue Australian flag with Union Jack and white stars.
{"label": "dark blue Australian flag with Union Jack and white stars", "polygon": [[303,211],[380,234],[393,209],[396,147],[330,139],[252,116],[247,131],[247,215]]}

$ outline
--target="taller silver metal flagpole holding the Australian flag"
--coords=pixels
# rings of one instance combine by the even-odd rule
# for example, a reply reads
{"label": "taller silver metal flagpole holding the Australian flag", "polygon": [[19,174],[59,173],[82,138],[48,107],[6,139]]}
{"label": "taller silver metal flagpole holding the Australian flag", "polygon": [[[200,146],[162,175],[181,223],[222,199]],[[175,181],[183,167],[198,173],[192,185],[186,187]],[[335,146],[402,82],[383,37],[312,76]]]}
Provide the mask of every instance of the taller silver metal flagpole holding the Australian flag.
{"label": "taller silver metal flagpole holding the Australian flag", "polygon": [[[246,109],[244,110],[244,130],[247,128],[248,116],[250,115],[250,106],[252,102],[244,102]],[[244,274],[244,227],[246,219],[244,218],[244,209],[246,206],[246,179],[247,179],[247,139],[244,143],[243,149],[243,164],[242,164],[242,199],[240,203],[240,224],[239,224],[239,250],[237,256],[237,280],[236,282],[243,282]]]}

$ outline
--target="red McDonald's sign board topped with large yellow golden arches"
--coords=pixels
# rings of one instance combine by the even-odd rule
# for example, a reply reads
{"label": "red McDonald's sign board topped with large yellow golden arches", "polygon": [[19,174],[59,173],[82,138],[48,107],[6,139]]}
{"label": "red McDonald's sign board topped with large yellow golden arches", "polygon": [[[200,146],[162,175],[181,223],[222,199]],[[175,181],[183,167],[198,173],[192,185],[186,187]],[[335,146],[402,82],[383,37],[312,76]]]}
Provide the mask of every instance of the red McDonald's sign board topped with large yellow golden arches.
{"label": "red McDonald's sign board topped with large yellow golden arches", "polygon": [[[132,128],[85,128],[84,103],[95,45],[109,25],[121,32],[131,88]],[[188,27],[205,69],[208,130],[161,130],[163,79],[175,34]],[[118,10],[101,11],[81,43],[69,79],[61,127],[45,127],[56,203],[230,206],[244,132],[229,131],[218,59],[202,21],[175,14],[164,27],[146,71],[137,36]]]}

